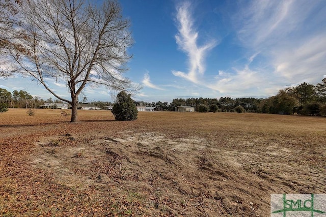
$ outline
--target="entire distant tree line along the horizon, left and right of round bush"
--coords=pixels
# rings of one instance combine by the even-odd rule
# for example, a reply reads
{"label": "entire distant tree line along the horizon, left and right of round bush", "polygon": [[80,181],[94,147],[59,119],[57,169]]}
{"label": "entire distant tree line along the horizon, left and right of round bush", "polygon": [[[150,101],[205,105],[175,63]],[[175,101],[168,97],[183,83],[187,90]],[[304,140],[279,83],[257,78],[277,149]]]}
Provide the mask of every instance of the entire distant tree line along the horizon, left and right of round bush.
{"label": "entire distant tree line along the horizon, left and right of round bush", "polygon": [[[86,103],[86,97],[79,103]],[[63,103],[49,98],[32,97],[28,92],[14,90],[12,93],[0,88],[0,103],[8,108],[39,108],[44,103]],[[112,102],[91,101],[99,108],[114,105]],[[199,112],[258,112],[270,114],[326,115],[326,78],[316,85],[302,83],[294,87],[279,90],[276,96],[263,98],[176,98],[168,102],[144,102],[146,107],[154,107],[156,111],[175,111],[177,106],[192,106]],[[240,110],[239,110],[240,108]]]}

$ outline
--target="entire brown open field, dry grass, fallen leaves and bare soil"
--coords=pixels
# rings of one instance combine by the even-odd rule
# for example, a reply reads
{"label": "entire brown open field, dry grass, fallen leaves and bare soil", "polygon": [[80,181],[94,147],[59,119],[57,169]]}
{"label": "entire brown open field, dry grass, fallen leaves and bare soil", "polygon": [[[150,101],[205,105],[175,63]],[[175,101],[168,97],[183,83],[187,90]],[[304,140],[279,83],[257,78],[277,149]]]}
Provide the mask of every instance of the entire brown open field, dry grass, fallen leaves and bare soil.
{"label": "entire brown open field, dry grass, fallen leaves and bare soil", "polygon": [[326,193],[326,118],[78,118],[0,114],[0,215],[269,216],[270,194]]}

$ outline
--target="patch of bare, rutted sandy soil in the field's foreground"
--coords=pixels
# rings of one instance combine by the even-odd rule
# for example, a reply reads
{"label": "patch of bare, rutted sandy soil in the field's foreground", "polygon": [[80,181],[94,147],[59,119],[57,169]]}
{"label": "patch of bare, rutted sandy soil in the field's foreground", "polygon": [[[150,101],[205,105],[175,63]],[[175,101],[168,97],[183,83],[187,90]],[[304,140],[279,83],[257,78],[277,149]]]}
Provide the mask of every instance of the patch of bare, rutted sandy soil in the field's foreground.
{"label": "patch of bare, rutted sandy soil in the field's foreground", "polygon": [[[203,138],[122,134],[125,137],[88,135],[92,139],[87,142],[67,136],[43,138],[36,144],[33,165],[75,189],[115,188],[135,194],[134,200],[149,215],[265,216],[270,193],[325,191],[322,175],[304,178],[318,174],[318,169],[301,166],[306,176],[293,172],[297,150],[277,141],[234,140],[230,147],[237,143],[238,149],[231,150]],[[124,200],[119,195],[115,199]]]}

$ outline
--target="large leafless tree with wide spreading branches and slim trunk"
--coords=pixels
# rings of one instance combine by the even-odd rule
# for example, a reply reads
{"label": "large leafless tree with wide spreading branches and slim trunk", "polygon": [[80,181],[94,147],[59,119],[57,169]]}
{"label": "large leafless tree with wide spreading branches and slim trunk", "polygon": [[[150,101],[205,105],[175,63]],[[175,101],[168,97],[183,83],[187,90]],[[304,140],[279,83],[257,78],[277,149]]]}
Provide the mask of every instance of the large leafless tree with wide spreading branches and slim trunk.
{"label": "large leafless tree with wide spreading branches and slim trunk", "polygon": [[[110,91],[138,90],[124,78],[133,43],[130,21],[115,0],[103,5],[83,0],[30,0],[18,8],[22,27],[10,49],[16,70],[42,84],[53,96],[70,103],[71,122],[77,121],[78,96],[86,85],[104,85]],[[46,79],[67,85],[71,99],[50,88]]]}

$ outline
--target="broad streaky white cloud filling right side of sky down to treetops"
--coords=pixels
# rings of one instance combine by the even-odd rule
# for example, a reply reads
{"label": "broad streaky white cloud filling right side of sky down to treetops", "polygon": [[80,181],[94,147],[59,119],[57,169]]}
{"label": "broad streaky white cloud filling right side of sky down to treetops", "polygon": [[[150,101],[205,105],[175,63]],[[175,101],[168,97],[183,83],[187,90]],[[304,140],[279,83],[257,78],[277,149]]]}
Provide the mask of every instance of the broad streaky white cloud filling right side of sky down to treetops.
{"label": "broad streaky white cloud filling right side of sky down to treetops", "polygon": [[250,92],[270,96],[286,84],[320,82],[326,68],[322,24],[326,8],[320,4],[302,0],[240,4],[232,21],[240,46],[251,55],[243,66],[220,70],[208,86],[234,96]]}

